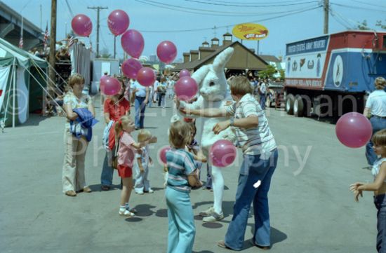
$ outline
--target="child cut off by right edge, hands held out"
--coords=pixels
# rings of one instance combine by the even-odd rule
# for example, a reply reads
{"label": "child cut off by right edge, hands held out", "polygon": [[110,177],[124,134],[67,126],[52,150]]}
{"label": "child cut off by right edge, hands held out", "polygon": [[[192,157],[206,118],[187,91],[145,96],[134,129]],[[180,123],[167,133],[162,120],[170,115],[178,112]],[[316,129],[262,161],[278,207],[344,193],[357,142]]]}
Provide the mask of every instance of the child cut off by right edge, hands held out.
{"label": "child cut off by right edge, hands held out", "polygon": [[355,201],[359,201],[362,191],[374,192],[374,204],[377,208],[377,250],[386,252],[386,129],[375,132],[373,138],[373,150],[380,156],[375,161],[371,173],[374,176],[374,182],[371,184],[354,183],[350,185],[350,191],[354,192]]}

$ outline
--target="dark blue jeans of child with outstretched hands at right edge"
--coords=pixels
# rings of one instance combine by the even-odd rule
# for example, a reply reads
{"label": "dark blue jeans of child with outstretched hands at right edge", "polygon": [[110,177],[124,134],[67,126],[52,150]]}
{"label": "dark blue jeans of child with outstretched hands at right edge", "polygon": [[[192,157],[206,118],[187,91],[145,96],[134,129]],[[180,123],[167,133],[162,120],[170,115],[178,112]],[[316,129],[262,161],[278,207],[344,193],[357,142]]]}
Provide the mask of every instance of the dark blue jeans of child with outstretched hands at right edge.
{"label": "dark blue jeans of child with outstretched hands at right edge", "polygon": [[381,194],[374,196],[374,204],[377,207],[377,251],[386,252],[386,196]]}

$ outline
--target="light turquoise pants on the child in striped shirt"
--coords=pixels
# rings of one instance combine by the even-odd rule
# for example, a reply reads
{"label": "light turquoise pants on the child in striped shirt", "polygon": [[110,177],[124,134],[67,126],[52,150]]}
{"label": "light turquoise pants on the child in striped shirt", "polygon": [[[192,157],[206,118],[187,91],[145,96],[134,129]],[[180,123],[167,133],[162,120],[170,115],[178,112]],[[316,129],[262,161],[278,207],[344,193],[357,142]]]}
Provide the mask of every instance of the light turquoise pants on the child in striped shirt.
{"label": "light turquoise pants on the child in striped shirt", "polygon": [[168,205],[167,253],[192,253],[196,227],[189,193],[166,187],[165,197]]}

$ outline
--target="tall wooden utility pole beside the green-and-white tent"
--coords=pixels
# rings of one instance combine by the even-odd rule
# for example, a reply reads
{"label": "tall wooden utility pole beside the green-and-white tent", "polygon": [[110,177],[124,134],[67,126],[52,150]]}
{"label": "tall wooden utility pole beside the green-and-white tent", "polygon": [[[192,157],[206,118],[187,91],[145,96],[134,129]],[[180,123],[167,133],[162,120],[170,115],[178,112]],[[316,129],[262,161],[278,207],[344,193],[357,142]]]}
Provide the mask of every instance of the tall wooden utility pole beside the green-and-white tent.
{"label": "tall wooden utility pole beside the green-and-white tent", "polygon": [[55,71],[53,68],[55,68],[55,44],[56,44],[56,6],[57,2],[56,0],[51,0],[51,33],[50,33],[50,65],[51,68],[48,68],[49,76],[52,81],[48,81],[48,92],[53,95],[53,88],[55,87]]}

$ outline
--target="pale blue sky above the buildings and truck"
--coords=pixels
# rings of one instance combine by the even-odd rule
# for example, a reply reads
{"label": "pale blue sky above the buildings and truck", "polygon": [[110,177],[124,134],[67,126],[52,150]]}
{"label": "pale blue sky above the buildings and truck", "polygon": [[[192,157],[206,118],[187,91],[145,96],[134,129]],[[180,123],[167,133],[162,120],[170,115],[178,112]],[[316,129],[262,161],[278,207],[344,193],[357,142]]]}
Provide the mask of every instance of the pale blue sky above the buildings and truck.
{"label": "pale blue sky above the buildings and truck", "polygon": [[[51,0],[2,0],[20,12],[36,26],[50,26]],[[107,27],[107,16],[115,9],[128,13],[129,29],[137,29],[145,38],[142,55],[155,54],[157,45],[164,40],[173,41],[182,53],[197,50],[201,43],[216,36],[232,32],[233,25],[255,22],[269,29],[267,39],[260,41],[260,53],[285,55],[286,43],[323,34],[323,1],[312,0],[67,0],[74,15],[85,14],[93,22],[91,41],[96,48],[96,17],[87,6],[107,6],[100,12],[100,50],[112,53],[114,39]],[[340,32],[367,20],[375,27],[376,20],[386,25],[385,0],[330,0],[329,32]],[[42,8],[42,25],[40,18]],[[20,11],[21,10],[21,11]],[[279,17],[284,16],[284,17]],[[65,0],[58,0],[57,39],[64,39],[65,30],[71,29],[72,15]],[[66,25],[67,23],[67,25]],[[218,27],[213,29],[213,27]],[[186,32],[184,32],[186,31]],[[236,40],[236,38],[233,38]],[[88,39],[86,39],[88,43]],[[256,41],[243,41],[248,48],[257,48]],[[123,56],[120,37],[117,38],[117,56]]]}

